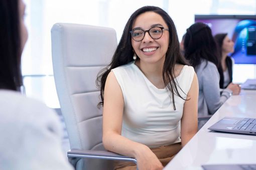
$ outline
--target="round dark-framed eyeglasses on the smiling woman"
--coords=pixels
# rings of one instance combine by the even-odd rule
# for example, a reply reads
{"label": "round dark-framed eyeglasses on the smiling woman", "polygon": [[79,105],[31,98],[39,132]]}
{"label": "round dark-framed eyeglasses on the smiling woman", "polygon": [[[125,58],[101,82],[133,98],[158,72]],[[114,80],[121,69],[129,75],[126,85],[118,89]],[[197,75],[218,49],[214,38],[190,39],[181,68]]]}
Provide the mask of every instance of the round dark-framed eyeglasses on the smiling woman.
{"label": "round dark-framed eyeglasses on the smiling woman", "polygon": [[167,28],[161,27],[161,26],[154,26],[152,28],[150,28],[149,30],[143,30],[141,28],[135,28],[133,30],[131,30],[131,34],[132,37],[135,41],[141,41],[146,32],[149,32],[149,35],[153,38],[153,39],[159,39],[161,38],[161,36],[163,35],[163,30],[168,30]]}

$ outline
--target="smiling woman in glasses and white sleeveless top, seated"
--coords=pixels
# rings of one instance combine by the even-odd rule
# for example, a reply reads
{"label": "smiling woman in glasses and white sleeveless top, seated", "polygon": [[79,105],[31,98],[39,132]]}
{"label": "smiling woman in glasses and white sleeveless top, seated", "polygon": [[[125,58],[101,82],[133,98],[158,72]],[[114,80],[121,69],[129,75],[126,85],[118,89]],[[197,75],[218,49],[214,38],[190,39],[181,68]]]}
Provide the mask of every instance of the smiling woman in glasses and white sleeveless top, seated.
{"label": "smiling woman in glasses and white sleeveless top, seated", "polygon": [[[135,157],[139,169],[162,169],[196,133],[197,77],[163,9],[132,14],[98,82],[104,147]],[[118,162],[115,169],[136,165]]]}

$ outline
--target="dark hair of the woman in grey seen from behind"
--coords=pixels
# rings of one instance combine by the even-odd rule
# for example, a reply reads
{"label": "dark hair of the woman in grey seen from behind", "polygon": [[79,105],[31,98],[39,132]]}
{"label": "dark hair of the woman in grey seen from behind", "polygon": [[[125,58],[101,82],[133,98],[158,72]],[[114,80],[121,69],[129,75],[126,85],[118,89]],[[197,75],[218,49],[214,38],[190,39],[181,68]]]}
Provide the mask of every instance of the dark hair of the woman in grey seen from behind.
{"label": "dark hair of the woman in grey seen from behind", "polygon": [[219,66],[217,44],[212,36],[211,28],[207,24],[196,22],[187,29],[184,48],[185,58],[195,69],[202,59]]}

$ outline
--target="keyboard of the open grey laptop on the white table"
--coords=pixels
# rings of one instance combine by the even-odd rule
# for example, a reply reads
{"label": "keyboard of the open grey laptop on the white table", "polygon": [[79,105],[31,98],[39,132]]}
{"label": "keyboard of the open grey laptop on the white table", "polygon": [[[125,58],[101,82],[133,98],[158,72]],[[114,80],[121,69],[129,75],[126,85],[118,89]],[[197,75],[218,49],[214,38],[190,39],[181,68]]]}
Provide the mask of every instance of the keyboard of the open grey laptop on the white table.
{"label": "keyboard of the open grey laptop on the white table", "polygon": [[256,131],[256,118],[244,118],[233,129],[243,131]]}

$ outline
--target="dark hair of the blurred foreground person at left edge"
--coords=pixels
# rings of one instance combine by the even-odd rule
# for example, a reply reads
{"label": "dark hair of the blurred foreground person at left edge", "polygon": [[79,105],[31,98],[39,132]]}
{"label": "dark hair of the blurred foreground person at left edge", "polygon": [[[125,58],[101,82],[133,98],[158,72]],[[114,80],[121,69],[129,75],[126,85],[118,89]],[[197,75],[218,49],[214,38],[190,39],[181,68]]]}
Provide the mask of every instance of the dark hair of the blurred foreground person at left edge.
{"label": "dark hair of the blurred foreground person at left edge", "polygon": [[20,90],[21,36],[18,0],[0,1],[0,89]]}

